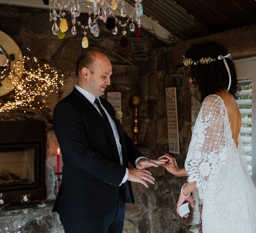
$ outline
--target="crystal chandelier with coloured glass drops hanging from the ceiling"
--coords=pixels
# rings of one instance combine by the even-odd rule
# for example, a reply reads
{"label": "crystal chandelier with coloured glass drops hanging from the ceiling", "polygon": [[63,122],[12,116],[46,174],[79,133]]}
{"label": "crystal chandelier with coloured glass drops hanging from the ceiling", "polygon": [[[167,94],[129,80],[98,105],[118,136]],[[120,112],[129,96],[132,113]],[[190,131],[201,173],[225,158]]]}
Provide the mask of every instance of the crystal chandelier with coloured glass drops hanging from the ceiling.
{"label": "crystal chandelier with coloured glass drops hanging from the ceiling", "polygon": [[[68,30],[68,24],[66,16],[69,13],[71,15],[72,28],[71,33],[76,35],[77,27],[81,27],[83,30],[82,47],[88,48],[89,42],[86,37],[87,31],[90,31],[95,37],[100,35],[100,28],[98,26],[99,20],[102,20],[106,24],[108,30],[112,30],[113,35],[117,35],[119,25],[122,30],[122,38],[120,45],[123,48],[128,46],[128,39],[126,35],[126,26],[129,24],[129,30],[135,31],[134,20],[137,22],[136,36],[140,37],[140,17],[143,15],[142,0],[135,0],[132,13],[127,20],[122,23],[121,20],[114,15],[117,5],[121,4],[120,15],[126,18],[126,9],[124,0],[82,0],[82,4],[88,9],[88,21],[82,23],[78,20],[81,13],[79,0],[49,0],[50,5],[50,22],[54,22],[52,25],[52,33],[63,39],[65,32]],[[58,10],[57,10],[58,9]],[[60,21],[58,21],[60,20]]]}

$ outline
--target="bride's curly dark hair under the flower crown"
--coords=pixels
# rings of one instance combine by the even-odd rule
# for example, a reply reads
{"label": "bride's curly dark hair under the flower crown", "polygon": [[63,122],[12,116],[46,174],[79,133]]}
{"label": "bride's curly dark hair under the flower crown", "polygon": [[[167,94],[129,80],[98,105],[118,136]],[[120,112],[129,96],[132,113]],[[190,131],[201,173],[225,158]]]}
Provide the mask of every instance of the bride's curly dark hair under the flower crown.
{"label": "bride's curly dark hair under the flower crown", "polygon": [[[223,60],[218,60],[218,56],[227,55],[227,50],[217,42],[207,41],[202,44],[193,44],[189,50],[185,52],[186,58],[198,61],[201,58],[215,58],[216,61],[209,62],[208,64],[198,63],[196,65],[190,65],[190,77],[192,84],[198,87],[201,92],[201,101],[208,95],[215,94],[221,89],[228,88],[229,77],[226,66]],[[229,92],[235,97],[238,91],[238,79],[236,73],[236,67],[234,62],[226,58],[230,74],[231,74],[231,86]]]}

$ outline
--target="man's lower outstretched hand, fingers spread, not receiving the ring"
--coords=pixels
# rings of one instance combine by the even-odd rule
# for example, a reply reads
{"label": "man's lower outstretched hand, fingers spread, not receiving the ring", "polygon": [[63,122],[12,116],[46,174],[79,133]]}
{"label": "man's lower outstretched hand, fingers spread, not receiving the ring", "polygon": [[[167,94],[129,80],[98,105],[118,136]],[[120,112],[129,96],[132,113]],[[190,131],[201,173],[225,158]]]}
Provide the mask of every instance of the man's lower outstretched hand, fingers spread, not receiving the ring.
{"label": "man's lower outstretched hand, fingers spread, not receiving the ring", "polygon": [[129,168],[129,174],[127,180],[132,182],[137,182],[143,184],[146,188],[148,185],[146,181],[151,184],[154,184],[154,177],[151,176],[152,174],[147,170],[141,170],[137,168]]}

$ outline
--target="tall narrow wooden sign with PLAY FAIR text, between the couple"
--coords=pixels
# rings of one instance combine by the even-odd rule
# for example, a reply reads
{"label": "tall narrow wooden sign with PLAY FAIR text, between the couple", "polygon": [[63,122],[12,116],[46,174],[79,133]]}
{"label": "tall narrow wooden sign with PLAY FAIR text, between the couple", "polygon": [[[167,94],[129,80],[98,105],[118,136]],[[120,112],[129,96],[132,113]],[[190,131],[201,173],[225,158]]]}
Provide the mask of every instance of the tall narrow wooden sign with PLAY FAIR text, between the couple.
{"label": "tall narrow wooden sign with PLAY FAIR text, between the couple", "polygon": [[180,153],[176,88],[166,88],[169,152]]}

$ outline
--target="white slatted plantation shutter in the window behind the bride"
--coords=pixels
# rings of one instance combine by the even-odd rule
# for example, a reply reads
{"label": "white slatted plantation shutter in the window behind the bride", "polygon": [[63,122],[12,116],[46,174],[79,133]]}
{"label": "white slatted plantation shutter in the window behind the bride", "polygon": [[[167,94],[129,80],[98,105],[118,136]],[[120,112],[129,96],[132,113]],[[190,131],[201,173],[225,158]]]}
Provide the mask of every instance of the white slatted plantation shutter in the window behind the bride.
{"label": "white slatted plantation shutter in the window behind the bride", "polygon": [[244,144],[248,170],[255,184],[255,66],[256,57],[234,61],[241,91],[236,95],[242,116],[240,136]]}

